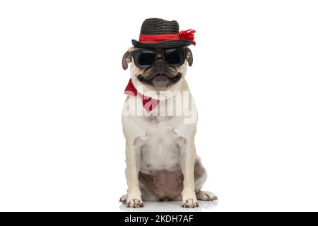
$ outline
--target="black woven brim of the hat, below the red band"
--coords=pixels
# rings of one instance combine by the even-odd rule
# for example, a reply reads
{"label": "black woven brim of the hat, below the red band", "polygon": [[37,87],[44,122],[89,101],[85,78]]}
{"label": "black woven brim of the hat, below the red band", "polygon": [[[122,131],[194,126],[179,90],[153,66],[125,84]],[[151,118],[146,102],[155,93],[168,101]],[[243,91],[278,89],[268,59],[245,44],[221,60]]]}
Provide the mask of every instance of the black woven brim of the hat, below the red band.
{"label": "black woven brim of the hat, below the red band", "polygon": [[169,40],[164,42],[139,42],[137,40],[131,40],[134,47],[140,48],[177,48],[187,47],[192,44],[190,40]]}

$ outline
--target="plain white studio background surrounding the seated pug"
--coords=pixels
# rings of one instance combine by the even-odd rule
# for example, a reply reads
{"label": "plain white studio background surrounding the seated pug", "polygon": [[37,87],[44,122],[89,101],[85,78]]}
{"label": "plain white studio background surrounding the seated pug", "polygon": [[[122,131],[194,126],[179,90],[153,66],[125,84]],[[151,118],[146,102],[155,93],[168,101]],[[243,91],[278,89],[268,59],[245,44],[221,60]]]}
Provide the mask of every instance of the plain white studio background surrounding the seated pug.
{"label": "plain white studio background surrounding the seated pug", "polygon": [[119,211],[121,60],[151,17],[196,30],[196,149],[219,198],[202,210],[318,210],[317,11],[317,1],[1,1],[0,210]]}

